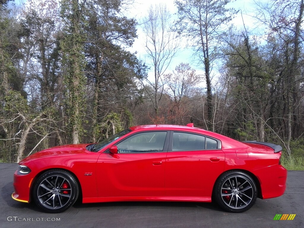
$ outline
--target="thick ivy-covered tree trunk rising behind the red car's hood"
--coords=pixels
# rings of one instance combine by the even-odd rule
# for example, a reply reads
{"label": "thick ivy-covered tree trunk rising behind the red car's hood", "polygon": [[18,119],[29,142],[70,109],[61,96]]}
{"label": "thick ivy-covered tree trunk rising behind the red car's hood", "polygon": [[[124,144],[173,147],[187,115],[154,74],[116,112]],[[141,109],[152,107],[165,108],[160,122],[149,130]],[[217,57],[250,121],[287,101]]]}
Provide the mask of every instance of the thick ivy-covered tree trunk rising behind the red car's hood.
{"label": "thick ivy-covered tree trunk rising behind the red car's hood", "polygon": [[65,103],[67,105],[68,124],[71,129],[71,142],[77,144],[83,134],[83,116],[85,112],[84,74],[84,2],[63,0],[61,15],[64,19],[64,39],[61,49],[64,58]]}

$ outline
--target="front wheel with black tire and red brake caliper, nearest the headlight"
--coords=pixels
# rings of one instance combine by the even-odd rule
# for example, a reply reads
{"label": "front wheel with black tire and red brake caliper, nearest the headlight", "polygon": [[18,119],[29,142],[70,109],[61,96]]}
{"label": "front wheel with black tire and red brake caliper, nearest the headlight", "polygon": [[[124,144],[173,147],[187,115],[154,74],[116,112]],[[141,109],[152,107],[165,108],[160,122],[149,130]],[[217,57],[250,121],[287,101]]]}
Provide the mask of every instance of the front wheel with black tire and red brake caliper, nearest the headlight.
{"label": "front wheel with black tire and red brake caliper, nearest the headlight", "polygon": [[32,196],[36,205],[48,213],[60,213],[71,207],[79,195],[75,177],[63,170],[50,170],[35,181]]}

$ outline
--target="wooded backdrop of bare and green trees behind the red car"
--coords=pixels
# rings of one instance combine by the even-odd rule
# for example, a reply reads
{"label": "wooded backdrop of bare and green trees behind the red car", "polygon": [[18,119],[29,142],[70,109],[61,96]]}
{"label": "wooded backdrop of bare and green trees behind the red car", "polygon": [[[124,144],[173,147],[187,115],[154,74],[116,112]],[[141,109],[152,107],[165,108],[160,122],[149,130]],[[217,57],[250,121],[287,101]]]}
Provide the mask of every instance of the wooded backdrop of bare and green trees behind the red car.
{"label": "wooded backdrop of bare and green trees behind the red car", "polygon": [[1,162],[133,125],[194,123],[280,144],[285,166],[304,168],[303,0],[250,12],[175,0],[174,13],[156,4],[140,19],[134,4],[0,0]]}

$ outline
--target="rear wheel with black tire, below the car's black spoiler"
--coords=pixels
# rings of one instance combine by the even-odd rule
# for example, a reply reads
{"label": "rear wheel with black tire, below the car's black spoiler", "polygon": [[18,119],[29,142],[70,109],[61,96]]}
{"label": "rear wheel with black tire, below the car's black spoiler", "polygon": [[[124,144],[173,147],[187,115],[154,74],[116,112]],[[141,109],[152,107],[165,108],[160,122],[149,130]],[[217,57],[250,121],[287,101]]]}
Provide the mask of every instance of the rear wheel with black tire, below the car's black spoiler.
{"label": "rear wheel with black tire, below the car's black spoiler", "polygon": [[216,202],[228,212],[247,211],[257,199],[257,186],[254,180],[242,171],[223,173],[214,186]]}

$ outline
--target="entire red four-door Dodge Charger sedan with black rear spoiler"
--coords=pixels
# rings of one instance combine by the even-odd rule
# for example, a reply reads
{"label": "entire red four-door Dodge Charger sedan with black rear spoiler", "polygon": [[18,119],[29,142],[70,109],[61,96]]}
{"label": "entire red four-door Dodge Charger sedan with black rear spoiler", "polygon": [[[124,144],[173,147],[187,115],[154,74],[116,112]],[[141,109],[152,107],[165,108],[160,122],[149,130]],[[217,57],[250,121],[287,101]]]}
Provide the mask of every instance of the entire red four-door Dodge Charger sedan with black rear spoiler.
{"label": "entire red four-door Dodge Charger sedan with black rear spoiler", "polygon": [[244,212],[284,194],[282,147],[193,127],[134,126],[100,143],[42,150],[19,163],[12,198],[50,213],[83,203],[216,201]]}

